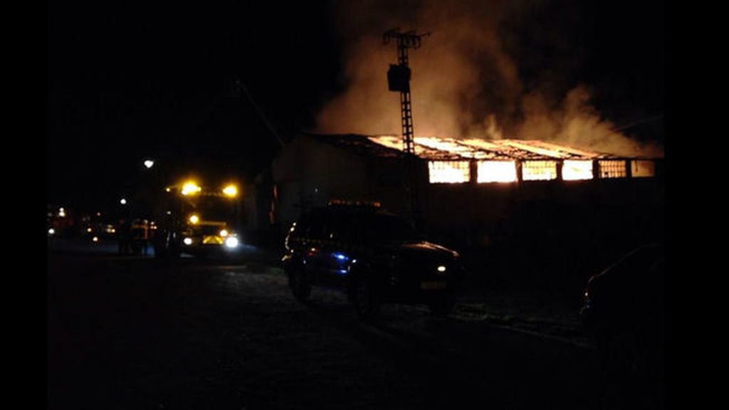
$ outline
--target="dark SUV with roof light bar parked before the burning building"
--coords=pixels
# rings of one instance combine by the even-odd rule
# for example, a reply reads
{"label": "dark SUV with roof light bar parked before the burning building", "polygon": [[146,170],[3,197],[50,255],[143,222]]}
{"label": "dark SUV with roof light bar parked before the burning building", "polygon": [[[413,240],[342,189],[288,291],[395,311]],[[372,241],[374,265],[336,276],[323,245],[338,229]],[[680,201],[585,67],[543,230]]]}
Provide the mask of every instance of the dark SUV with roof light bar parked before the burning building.
{"label": "dark SUV with roof light bar parked before the burning building", "polygon": [[449,312],[464,276],[458,252],[371,206],[304,214],[286,236],[283,265],[300,301],[313,285],[342,290],[364,319],[375,317],[381,303],[425,303],[432,312]]}

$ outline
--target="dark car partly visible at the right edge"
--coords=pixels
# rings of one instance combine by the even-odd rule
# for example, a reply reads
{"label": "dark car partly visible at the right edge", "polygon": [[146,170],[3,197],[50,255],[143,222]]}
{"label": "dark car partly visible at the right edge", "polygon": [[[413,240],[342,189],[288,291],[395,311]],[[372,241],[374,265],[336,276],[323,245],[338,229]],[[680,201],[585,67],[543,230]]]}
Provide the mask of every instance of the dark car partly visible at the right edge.
{"label": "dark car partly visible at the right edge", "polygon": [[620,378],[658,378],[663,363],[665,255],[661,244],[639,247],[590,277],[580,317]]}

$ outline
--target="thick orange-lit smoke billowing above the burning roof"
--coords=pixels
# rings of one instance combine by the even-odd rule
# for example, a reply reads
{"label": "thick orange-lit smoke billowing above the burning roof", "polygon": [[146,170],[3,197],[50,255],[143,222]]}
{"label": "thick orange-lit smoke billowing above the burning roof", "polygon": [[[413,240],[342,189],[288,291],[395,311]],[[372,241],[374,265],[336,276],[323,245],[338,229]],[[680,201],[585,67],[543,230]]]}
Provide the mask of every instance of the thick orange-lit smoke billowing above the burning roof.
{"label": "thick orange-lit smoke billowing above the burning roof", "polygon": [[[660,147],[612,131],[615,125],[590,104],[589,87],[569,83],[573,73],[558,71],[579,69],[579,58],[571,55],[561,66],[539,70],[539,63],[524,61],[525,56],[546,53],[539,44],[522,44],[529,39],[523,27],[543,4],[335,1],[346,58],[345,91],[321,110],[317,131],[402,132],[399,95],[388,90],[386,80],[389,64],[397,62],[397,49],[394,42],[383,45],[382,39],[385,31],[397,27],[431,33],[422,47],[409,53],[416,136],[542,139],[619,155],[661,155]],[[549,41],[547,34],[537,38]]]}

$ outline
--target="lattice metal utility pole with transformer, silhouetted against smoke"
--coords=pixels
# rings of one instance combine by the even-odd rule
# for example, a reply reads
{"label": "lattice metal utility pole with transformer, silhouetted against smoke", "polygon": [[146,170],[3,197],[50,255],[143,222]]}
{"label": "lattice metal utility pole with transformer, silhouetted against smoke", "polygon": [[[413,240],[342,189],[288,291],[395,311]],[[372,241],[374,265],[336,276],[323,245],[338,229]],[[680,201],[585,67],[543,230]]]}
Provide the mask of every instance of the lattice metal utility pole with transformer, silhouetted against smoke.
{"label": "lattice metal utility pole with transformer, silhouetted against smoke", "polygon": [[397,44],[397,64],[390,64],[387,71],[387,84],[391,91],[400,93],[400,114],[402,118],[402,151],[405,152],[405,190],[410,197],[410,211],[416,220],[420,214],[420,201],[418,196],[417,160],[415,155],[415,142],[413,133],[413,108],[410,104],[410,66],[408,66],[408,50],[419,48],[421,38],[430,33],[416,34],[415,31],[401,33],[393,28],[383,34],[383,45],[392,39]]}

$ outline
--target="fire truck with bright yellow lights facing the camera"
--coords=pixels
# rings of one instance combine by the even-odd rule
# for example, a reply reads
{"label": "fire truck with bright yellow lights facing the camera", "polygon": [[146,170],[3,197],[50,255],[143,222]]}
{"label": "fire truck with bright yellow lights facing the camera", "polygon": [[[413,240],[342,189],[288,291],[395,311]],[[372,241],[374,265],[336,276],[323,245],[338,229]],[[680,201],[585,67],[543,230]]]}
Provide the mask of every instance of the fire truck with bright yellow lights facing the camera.
{"label": "fire truck with bright yellow lights facing the camera", "polygon": [[157,258],[226,254],[238,249],[240,202],[234,183],[201,186],[194,180],[165,187],[157,204],[152,244]]}

